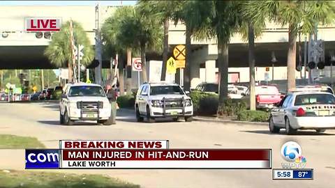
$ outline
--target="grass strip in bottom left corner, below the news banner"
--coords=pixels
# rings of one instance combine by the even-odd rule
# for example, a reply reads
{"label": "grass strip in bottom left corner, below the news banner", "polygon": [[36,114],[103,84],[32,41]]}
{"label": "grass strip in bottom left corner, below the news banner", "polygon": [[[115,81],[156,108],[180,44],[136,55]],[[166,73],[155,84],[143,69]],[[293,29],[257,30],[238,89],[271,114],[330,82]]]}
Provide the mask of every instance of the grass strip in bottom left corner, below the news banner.
{"label": "grass strip in bottom left corner, below the news banner", "polygon": [[41,171],[0,171],[0,187],[92,187],[92,188],[135,188],[134,185],[105,175],[76,175],[67,173],[47,173]]}

